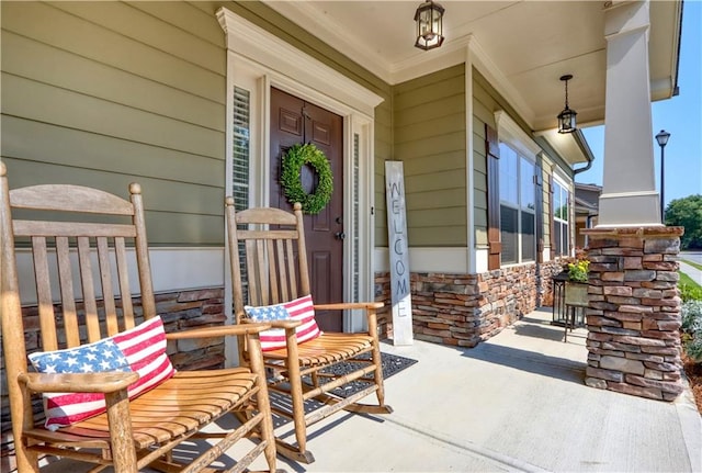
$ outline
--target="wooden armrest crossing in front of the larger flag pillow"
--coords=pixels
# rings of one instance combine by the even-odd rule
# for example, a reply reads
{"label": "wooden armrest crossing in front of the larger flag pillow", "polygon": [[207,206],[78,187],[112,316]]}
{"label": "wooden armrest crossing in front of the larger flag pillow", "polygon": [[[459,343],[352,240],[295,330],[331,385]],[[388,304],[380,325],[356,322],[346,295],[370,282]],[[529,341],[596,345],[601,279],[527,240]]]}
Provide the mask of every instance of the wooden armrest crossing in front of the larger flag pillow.
{"label": "wooden armrest crossing in front of the larger flag pillow", "polygon": [[18,380],[36,393],[115,393],[139,375],[135,371],[102,373],[21,373]]}

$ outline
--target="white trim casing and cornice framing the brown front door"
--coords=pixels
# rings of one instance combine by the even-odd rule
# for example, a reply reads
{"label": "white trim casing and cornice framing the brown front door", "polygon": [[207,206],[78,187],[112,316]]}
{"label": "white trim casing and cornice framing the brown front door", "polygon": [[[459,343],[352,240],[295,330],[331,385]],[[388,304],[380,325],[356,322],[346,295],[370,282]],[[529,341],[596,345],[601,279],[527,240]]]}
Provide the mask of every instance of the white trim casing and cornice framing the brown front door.
{"label": "white trim casing and cornice framing the brown front door", "polygon": [[[270,164],[263,157],[270,156],[271,87],[341,115],[343,154],[348,157],[343,169],[343,215],[348,235],[343,243],[343,299],[374,300],[374,115],[375,108],[384,99],[230,10],[220,8],[216,14],[225,33],[235,32],[227,34],[226,116],[234,113],[235,87],[251,94],[249,205],[270,203]],[[231,176],[233,171],[233,122],[227,120],[226,176]],[[358,194],[353,193],[354,183],[358,184]],[[225,192],[230,194],[231,190],[231,181],[226,179]],[[354,239],[356,244],[352,244]],[[358,274],[353,274],[354,268]],[[228,278],[227,269],[225,307],[231,306]],[[344,331],[365,328],[364,317],[351,315],[344,314]],[[231,317],[231,314],[227,316]],[[227,362],[234,360],[236,363],[236,346],[227,346],[226,350]]]}

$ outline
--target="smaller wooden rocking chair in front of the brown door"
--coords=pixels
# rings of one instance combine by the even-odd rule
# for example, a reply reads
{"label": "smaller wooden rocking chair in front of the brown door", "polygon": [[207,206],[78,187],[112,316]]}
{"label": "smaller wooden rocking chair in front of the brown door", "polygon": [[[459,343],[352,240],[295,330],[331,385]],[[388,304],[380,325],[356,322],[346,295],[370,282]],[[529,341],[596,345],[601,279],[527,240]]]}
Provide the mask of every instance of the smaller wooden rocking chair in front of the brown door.
{"label": "smaller wooden rocking chair in front of the brown door", "polygon": [[[275,305],[310,295],[307,254],[299,204],[290,213],[280,209],[249,209],[235,212],[234,200],[226,199],[226,218],[237,324],[250,320],[251,312],[260,306]],[[245,256],[240,261],[240,252]],[[242,272],[246,272],[244,281]],[[245,282],[246,284],[242,284]],[[245,288],[248,300],[245,299]],[[313,294],[314,296],[314,294]],[[246,306],[245,306],[246,301]],[[252,307],[253,306],[253,307]],[[367,331],[359,334],[322,333],[298,342],[299,320],[270,320],[279,331],[284,330],[281,348],[263,351],[269,369],[269,391],[273,399],[285,396],[285,402],[273,402],[273,414],[294,423],[296,446],[276,438],[278,452],[294,461],[312,463],[314,455],[307,450],[307,427],[329,415],[346,409],[353,413],[389,414],[385,404],[383,370],[377,337],[376,311],[383,303],[316,304],[315,309],[364,311]],[[247,312],[248,311],[248,312]],[[274,317],[273,317],[274,318]],[[270,320],[270,322],[269,322]],[[261,334],[263,340],[264,334]],[[248,359],[246,340],[239,339],[239,356]],[[333,365],[348,368],[335,374]],[[348,397],[338,396],[335,388],[362,381],[362,387]],[[375,393],[377,404],[358,402]],[[322,405],[309,413],[305,402],[316,399]]]}

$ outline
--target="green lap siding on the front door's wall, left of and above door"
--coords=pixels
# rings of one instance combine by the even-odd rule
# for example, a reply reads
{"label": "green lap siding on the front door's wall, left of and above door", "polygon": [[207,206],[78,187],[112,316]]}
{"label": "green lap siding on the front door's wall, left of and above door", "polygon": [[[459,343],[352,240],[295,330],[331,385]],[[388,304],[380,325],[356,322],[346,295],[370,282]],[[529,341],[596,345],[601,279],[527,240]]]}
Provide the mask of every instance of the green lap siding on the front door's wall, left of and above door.
{"label": "green lap siding on the front door's wall, left of and above door", "polygon": [[386,98],[375,128],[382,185],[393,153],[389,86],[254,1],[1,2],[10,185],[66,182],[126,196],[136,181],[152,245],[224,245],[223,5]]}

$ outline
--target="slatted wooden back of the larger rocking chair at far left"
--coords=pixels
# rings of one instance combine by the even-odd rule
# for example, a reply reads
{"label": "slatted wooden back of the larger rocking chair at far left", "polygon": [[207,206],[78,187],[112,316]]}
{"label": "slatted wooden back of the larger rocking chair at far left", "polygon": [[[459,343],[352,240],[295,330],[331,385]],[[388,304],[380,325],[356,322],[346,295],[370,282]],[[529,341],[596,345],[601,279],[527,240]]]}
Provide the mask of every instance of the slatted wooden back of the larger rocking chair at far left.
{"label": "slatted wooden back of the larger rocking chair at far left", "polygon": [[[127,240],[131,246],[136,246],[136,225],[121,222],[70,222],[76,218],[75,215],[86,212],[86,204],[80,199],[94,201],[97,207],[102,209],[103,215],[124,218],[124,215],[135,215],[135,205],[140,205],[140,195],[135,195],[134,202],[129,203],[120,202],[114,195],[95,189],[77,185],[71,185],[70,189],[76,192],[72,199],[61,198],[58,202],[41,207],[42,211],[52,210],[65,214],[68,222],[13,222],[15,236],[29,237],[32,243],[44,350],[78,347],[133,328],[133,294],[144,294],[146,319],[156,314],[155,306],[148,302],[154,296],[148,266],[139,267],[138,279],[147,281],[145,288],[129,281]],[[32,188],[12,191],[11,203],[20,203],[20,209],[24,209],[26,213],[39,202],[36,195],[59,194],[59,188],[50,184],[34,187],[35,193],[30,192]],[[115,204],[116,207],[109,209]],[[92,207],[90,212],[95,213]],[[148,254],[141,257],[148,258]],[[55,307],[59,307],[59,314],[56,314]]]}

